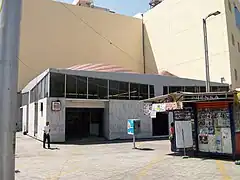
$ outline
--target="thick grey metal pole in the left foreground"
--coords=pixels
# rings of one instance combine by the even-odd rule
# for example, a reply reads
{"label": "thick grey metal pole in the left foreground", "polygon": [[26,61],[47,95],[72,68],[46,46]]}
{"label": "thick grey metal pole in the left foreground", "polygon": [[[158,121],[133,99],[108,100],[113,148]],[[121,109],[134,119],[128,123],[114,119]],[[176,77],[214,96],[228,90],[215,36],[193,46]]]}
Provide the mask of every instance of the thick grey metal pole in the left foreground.
{"label": "thick grey metal pole in the left foreground", "polygon": [[0,0],[0,180],[15,179],[21,0]]}

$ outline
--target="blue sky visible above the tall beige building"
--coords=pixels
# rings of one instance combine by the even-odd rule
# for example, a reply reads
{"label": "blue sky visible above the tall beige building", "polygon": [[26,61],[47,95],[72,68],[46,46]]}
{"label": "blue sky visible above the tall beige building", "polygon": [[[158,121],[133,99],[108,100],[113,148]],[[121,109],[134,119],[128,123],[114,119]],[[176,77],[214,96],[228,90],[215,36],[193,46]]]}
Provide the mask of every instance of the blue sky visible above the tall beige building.
{"label": "blue sky visible above the tall beige building", "polygon": [[[73,0],[59,0],[72,3]],[[108,8],[119,14],[134,16],[149,9],[150,0],[94,0],[94,5]]]}

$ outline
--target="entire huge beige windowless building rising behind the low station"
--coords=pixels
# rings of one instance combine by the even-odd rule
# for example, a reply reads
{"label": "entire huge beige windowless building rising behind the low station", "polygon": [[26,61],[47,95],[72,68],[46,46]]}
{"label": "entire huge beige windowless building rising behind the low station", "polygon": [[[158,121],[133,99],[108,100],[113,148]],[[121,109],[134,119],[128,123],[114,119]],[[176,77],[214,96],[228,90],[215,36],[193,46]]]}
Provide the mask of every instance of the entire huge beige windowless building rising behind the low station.
{"label": "entire huge beige windowless building rising behind the low station", "polygon": [[202,19],[215,11],[221,14],[207,20],[210,78],[239,87],[235,7],[240,10],[238,0],[164,0],[142,19],[51,0],[23,0],[19,90],[45,69],[89,63],[205,80]]}

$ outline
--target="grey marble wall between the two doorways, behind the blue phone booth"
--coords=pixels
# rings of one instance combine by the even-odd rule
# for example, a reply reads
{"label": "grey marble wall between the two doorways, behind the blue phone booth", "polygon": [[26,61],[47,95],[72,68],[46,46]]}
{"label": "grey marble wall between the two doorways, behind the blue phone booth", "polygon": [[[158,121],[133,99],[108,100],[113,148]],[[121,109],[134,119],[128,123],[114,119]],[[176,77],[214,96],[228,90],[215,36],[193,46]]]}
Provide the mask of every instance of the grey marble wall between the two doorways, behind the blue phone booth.
{"label": "grey marble wall between the two doorways, behind the blue phone booth", "polygon": [[152,137],[152,120],[144,115],[143,103],[127,100],[109,101],[109,139],[130,139],[127,134],[128,119],[141,119],[141,133],[137,138]]}

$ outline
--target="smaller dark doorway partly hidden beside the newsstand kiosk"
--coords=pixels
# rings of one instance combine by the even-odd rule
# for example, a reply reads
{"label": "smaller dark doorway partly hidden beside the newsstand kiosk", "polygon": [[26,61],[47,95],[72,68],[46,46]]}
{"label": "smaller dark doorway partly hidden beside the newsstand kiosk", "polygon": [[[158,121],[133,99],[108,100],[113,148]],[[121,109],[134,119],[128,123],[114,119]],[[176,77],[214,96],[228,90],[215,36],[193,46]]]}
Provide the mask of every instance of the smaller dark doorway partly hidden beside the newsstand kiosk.
{"label": "smaller dark doorway partly hidden beside the newsstand kiosk", "polygon": [[156,118],[152,119],[152,133],[153,136],[168,136],[168,113],[157,112]]}

